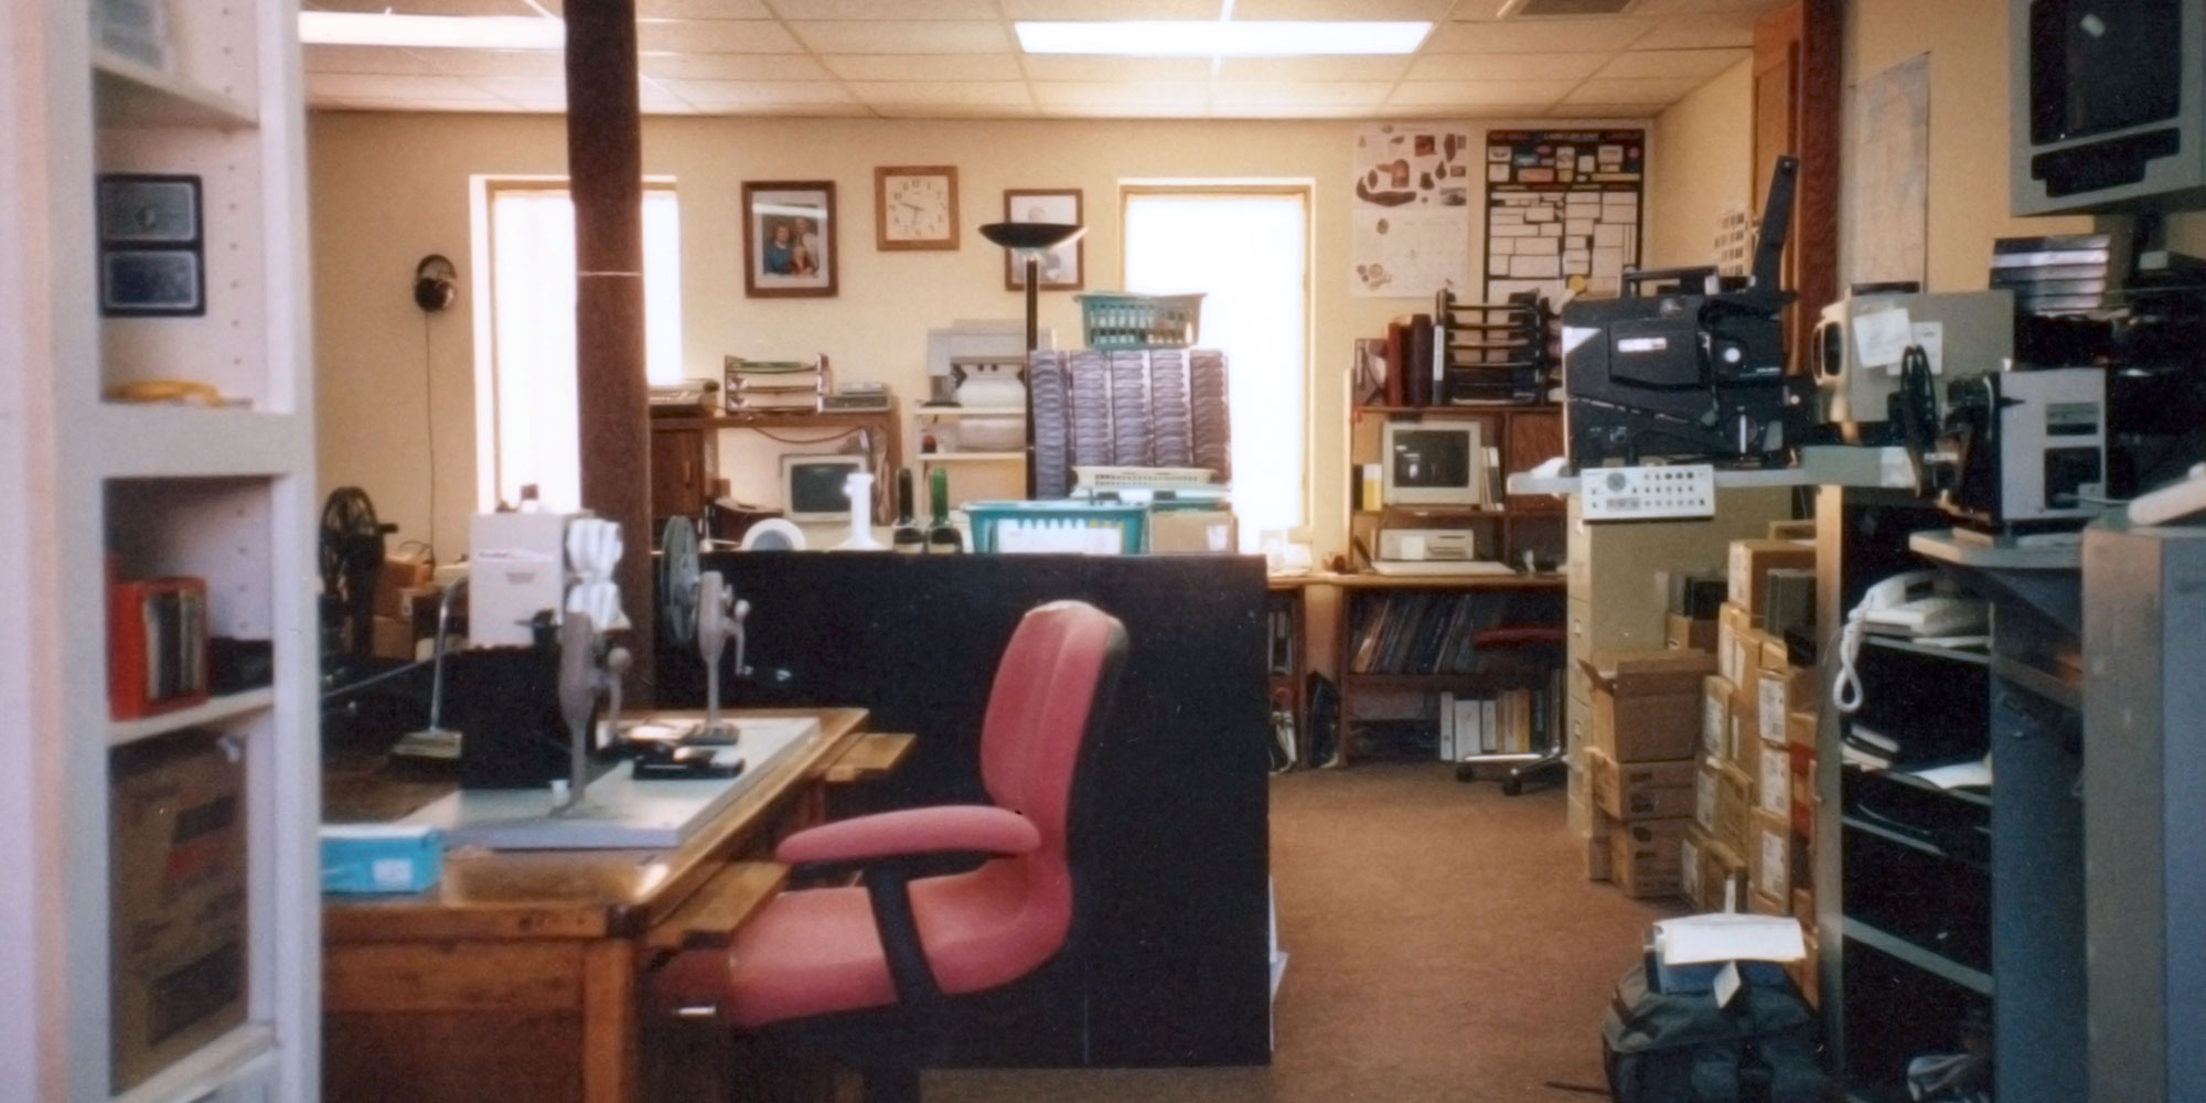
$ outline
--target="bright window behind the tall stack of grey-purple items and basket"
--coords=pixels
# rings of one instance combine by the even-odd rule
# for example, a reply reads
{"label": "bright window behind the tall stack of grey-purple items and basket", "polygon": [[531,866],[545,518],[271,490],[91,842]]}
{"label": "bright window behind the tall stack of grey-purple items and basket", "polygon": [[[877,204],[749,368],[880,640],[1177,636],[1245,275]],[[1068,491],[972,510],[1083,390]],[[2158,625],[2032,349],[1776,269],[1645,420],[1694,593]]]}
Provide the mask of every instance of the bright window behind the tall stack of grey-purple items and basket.
{"label": "bright window behind the tall stack of grey-purple items and basket", "polygon": [[1198,344],[1227,353],[1240,543],[1308,521],[1308,190],[1141,188],[1125,196],[1125,289],[1202,291]]}

